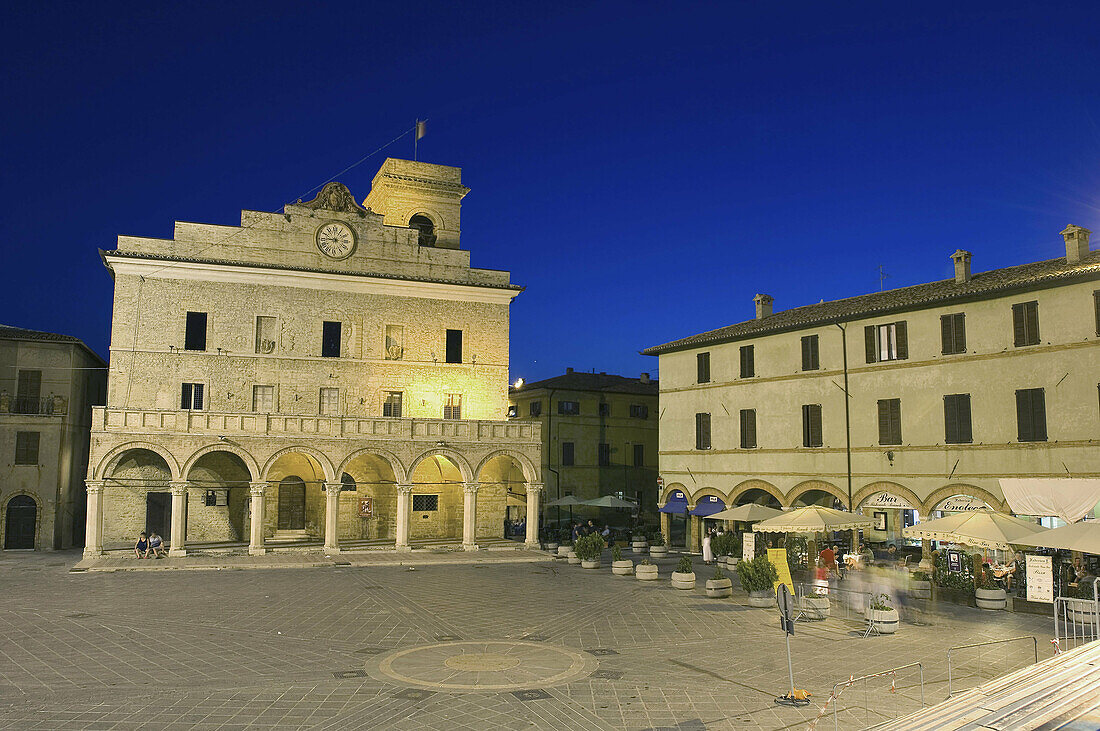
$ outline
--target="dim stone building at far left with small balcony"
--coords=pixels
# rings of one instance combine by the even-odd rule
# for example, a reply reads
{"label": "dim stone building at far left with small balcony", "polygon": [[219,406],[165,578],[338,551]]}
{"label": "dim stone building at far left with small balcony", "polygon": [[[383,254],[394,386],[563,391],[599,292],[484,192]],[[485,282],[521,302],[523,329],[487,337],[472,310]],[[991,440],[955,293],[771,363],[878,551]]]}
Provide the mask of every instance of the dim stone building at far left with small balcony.
{"label": "dim stone building at far left with small balcony", "polygon": [[106,387],[107,364],[76,337],[0,326],[0,549],[84,543],[88,428]]}

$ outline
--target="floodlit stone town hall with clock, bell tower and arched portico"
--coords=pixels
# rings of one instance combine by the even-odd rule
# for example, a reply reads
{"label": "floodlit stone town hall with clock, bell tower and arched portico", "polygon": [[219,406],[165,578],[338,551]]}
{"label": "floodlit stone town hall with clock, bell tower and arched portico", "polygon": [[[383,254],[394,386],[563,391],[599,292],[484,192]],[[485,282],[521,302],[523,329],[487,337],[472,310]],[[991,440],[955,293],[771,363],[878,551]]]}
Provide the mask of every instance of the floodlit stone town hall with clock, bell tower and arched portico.
{"label": "floodlit stone town hall with clock, bell tower and arched portico", "polygon": [[103,253],[112,372],[89,553],[150,529],[177,554],[185,540],[474,547],[502,534],[507,492],[538,510],[538,424],[505,420],[521,288],[458,248],[461,170],[387,159],[378,176],[366,208],[328,184],[240,226],[177,222],[170,241]]}

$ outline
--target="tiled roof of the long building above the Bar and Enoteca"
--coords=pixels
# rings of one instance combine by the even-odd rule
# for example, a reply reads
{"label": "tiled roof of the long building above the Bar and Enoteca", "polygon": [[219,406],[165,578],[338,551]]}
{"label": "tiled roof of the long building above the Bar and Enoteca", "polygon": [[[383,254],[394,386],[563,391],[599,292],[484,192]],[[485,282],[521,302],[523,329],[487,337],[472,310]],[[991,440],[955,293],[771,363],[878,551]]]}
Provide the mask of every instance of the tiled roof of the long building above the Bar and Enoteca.
{"label": "tiled roof of the long building above the Bar and Enoteca", "polygon": [[923,310],[952,302],[991,299],[1015,291],[1046,289],[1097,279],[1100,279],[1100,252],[1091,252],[1077,264],[1068,264],[1065,257],[1060,257],[981,272],[972,275],[970,280],[965,283],[957,283],[954,278],[943,279],[924,285],[781,310],[760,320],[747,320],[691,337],[674,340],[663,345],[647,347],[641,351],[641,354],[661,355],[701,345],[726,343],[895,312]]}

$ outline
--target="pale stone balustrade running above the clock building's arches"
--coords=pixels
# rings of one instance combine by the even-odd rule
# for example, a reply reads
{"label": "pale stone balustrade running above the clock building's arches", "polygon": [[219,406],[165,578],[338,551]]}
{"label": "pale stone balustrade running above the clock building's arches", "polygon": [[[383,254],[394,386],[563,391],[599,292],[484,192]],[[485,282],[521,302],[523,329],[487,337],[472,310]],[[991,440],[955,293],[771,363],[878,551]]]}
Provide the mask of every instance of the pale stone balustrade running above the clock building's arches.
{"label": "pale stone balustrade running above the clock building's arches", "polygon": [[538,421],[395,419],[388,417],[183,411],[95,407],[92,431],[184,434],[307,435],[414,441],[539,443]]}

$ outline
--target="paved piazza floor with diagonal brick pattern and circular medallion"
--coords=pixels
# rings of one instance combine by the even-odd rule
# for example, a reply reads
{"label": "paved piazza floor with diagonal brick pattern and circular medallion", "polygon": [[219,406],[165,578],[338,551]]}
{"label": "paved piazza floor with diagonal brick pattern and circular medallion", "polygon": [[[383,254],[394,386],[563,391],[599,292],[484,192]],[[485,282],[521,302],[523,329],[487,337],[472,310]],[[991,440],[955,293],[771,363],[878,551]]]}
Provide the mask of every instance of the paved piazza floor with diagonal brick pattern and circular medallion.
{"label": "paved piazza floor with diagonal brick pattern and circular medallion", "polygon": [[[642,583],[506,555],[73,574],[75,553],[0,554],[0,728],[806,728],[851,675],[920,662],[934,702],[952,645],[1034,634],[1050,654],[1047,617],[910,610],[897,635],[868,639],[855,621],[799,622],[795,684],[815,702],[783,708],[776,612],[744,592],[673,589],[675,557]],[[712,572],[696,567],[701,582]],[[956,684],[1032,655],[994,647],[956,653]],[[854,686],[840,728],[919,698],[915,667]]]}

